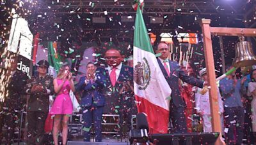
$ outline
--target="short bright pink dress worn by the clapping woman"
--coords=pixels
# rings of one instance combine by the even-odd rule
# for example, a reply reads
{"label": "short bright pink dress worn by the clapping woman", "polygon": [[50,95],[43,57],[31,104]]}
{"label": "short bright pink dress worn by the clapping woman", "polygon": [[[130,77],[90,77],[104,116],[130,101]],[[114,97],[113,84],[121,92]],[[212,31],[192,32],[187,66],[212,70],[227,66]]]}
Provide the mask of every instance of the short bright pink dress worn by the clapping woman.
{"label": "short bright pink dress worn by the clapping woman", "polygon": [[[62,79],[57,79],[58,85],[62,83]],[[54,103],[51,107],[50,114],[72,114],[73,105],[69,96],[70,84],[69,81],[65,81],[63,84],[60,94],[57,95]]]}

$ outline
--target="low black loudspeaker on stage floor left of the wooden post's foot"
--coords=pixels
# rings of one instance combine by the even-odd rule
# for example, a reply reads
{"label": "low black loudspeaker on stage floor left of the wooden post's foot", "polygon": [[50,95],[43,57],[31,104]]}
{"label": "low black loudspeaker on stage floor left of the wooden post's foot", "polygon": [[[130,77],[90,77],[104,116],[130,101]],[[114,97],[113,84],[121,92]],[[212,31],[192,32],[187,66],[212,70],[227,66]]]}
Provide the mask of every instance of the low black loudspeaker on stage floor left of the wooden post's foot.
{"label": "low black loudspeaker on stage floor left of the wooden post's foot", "polygon": [[200,145],[200,144],[214,144],[220,133],[189,133],[189,134],[153,134],[150,135],[150,142],[156,144],[186,144],[186,145]]}

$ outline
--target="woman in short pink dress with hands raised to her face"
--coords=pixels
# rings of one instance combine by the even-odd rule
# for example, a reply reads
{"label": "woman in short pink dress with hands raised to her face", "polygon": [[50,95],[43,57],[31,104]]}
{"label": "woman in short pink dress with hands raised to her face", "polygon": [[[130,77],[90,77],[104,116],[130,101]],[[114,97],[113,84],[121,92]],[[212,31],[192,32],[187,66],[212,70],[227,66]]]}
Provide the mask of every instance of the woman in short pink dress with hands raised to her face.
{"label": "woman in short pink dress with hands raised to her face", "polygon": [[54,91],[57,94],[56,99],[52,105],[50,114],[54,114],[54,124],[52,130],[52,137],[54,144],[58,144],[58,133],[60,129],[60,122],[62,119],[62,144],[67,143],[68,134],[68,120],[72,114],[73,106],[69,96],[70,90],[75,92],[74,81],[72,80],[72,73],[68,66],[62,66],[57,78],[53,80]]}

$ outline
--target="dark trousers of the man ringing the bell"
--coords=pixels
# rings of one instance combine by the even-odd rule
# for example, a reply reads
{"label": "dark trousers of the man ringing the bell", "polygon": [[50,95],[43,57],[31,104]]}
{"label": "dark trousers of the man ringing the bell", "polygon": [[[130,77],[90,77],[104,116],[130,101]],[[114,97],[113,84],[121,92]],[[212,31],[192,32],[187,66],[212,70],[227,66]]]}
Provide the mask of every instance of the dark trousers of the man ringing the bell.
{"label": "dark trousers of the man ringing the bell", "polygon": [[170,120],[172,120],[173,133],[186,133],[188,132],[186,117],[185,117],[185,107],[176,107],[173,102],[170,102]]}

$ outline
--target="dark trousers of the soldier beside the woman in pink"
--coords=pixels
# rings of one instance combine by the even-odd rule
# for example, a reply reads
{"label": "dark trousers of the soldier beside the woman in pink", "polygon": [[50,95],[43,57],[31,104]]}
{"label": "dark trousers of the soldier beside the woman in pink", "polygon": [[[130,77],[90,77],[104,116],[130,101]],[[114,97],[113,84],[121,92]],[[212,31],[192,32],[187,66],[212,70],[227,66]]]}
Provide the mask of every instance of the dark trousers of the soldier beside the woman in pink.
{"label": "dark trousers of the soldier beside the woman in pink", "polygon": [[47,112],[28,111],[27,144],[42,144],[44,142],[44,124]]}

